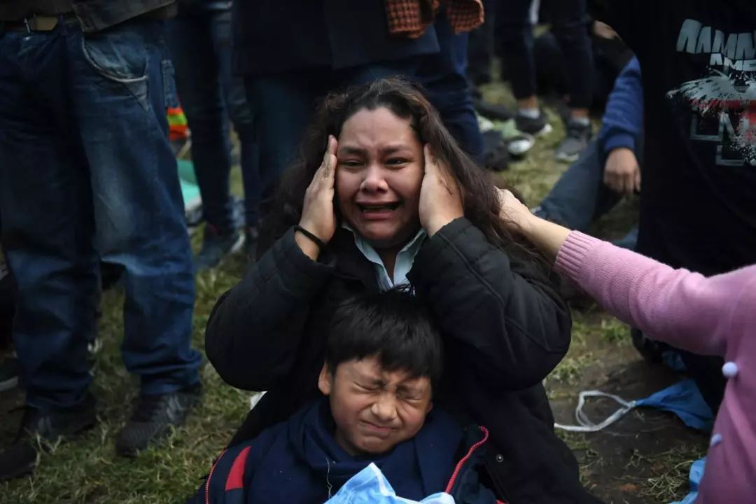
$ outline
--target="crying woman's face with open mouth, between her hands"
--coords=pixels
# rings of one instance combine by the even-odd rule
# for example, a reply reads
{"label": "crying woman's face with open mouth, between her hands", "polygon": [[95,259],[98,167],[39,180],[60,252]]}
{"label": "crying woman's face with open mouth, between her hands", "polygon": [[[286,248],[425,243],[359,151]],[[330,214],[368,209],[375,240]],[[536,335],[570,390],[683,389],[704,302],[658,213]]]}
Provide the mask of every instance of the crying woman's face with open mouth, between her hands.
{"label": "crying woman's face with open mouth, between her hands", "polygon": [[344,220],[377,249],[400,246],[420,229],[423,145],[391,110],[347,119],[336,152],[336,197]]}

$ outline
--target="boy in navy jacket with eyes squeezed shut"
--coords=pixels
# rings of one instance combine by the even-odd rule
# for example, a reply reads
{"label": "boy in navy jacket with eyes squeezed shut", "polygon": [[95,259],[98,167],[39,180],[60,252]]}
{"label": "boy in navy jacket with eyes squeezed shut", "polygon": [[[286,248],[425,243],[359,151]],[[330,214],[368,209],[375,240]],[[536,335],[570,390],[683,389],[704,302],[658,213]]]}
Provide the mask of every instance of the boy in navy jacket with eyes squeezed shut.
{"label": "boy in navy jacket with eyes squeezed shut", "polygon": [[370,462],[407,499],[496,502],[474,470],[488,432],[433,409],[443,356],[431,320],[404,290],[341,305],[318,378],[327,397],[222,453],[190,502],[325,502]]}

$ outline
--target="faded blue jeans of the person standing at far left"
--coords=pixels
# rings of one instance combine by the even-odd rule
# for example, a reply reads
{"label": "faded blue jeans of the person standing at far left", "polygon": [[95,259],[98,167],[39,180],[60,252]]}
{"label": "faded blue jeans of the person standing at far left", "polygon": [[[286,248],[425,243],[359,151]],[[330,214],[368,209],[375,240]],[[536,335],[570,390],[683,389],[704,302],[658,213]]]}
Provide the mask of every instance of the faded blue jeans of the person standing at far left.
{"label": "faded blue jeans of the person standing at far left", "polygon": [[0,215],[18,286],[26,400],[70,407],[91,382],[98,259],[125,270],[125,366],[143,394],[198,381],[194,278],[166,100],[163,25],[82,36],[0,26]]}

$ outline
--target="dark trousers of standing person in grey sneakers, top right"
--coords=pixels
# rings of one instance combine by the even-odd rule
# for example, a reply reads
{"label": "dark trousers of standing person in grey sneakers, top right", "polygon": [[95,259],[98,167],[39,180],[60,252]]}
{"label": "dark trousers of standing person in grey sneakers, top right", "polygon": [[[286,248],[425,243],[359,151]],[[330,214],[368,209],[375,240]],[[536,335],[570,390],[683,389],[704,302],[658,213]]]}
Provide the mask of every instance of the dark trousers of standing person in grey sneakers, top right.
{"label": "dark trousers of standing person in grey sneakers, top right", "polygon": [[[499,0],[494,6],[494,33],[516,98],[536,93],[532,0]],[[551,30],[568,69],[570,107],[589,108],[593,54],[587,29],[586,0],[555,0],[548,9]]]}

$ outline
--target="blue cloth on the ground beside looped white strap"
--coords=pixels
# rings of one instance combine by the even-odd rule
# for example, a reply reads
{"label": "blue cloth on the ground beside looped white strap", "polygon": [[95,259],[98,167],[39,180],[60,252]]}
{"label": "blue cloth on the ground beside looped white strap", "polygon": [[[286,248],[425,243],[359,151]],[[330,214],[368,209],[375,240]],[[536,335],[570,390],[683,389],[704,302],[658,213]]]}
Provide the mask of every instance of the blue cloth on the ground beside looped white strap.
{"label": "blue cloth on the ground beside looped white strap", "polygon": [[709,432],[714,426],[714,414],[692,379],[677,382],[645,399],[637,400],[635,406],[670,411],[679,416],[685,425],[699,431]]}

